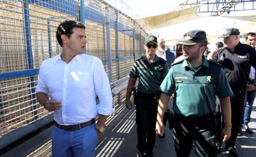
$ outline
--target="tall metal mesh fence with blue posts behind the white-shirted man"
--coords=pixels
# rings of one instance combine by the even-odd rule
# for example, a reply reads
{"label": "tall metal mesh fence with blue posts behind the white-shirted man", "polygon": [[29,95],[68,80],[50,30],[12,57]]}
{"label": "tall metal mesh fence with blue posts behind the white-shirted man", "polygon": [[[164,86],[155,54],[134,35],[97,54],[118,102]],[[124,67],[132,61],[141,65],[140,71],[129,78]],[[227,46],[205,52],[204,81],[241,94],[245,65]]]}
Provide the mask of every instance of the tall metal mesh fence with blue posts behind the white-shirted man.
{"label": "tall metal mesh fence with blue posts behind the white-shirted man", "polygon": [[[145,53],[146,28],[102,0],[0,0],[0,138],[49,114],[35,86],[41,62],[62,51],[55,32],[64,20],[85,24],[86,53],[102,60],[110,82],[128,75]],[[124,96],[125,90],[114,103]]]}

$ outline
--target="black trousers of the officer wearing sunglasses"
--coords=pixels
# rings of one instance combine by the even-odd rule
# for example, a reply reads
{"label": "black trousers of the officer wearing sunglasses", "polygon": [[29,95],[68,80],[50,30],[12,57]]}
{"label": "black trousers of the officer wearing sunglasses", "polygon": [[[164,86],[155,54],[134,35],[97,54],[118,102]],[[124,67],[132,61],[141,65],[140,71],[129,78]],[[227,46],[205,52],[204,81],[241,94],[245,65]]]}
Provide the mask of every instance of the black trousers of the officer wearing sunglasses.
{"label": "black trousers of the officer wearing sunglasses", "polygon": [[136,102],[136,124],[139,153],[153,153],[158,103],[153,97],[139,97]]}

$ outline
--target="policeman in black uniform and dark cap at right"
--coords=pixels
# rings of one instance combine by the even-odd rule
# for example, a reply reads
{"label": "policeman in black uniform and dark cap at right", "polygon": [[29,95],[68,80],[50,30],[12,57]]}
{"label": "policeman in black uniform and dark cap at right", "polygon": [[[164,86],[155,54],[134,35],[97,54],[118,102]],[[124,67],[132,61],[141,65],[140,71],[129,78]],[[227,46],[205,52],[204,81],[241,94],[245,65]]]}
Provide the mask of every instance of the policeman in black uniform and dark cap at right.
{"label": "policeman in black uniform and dark cap at right", "polygon": [[209,58],[220,64],[226,74],[233,97],[231,99],[231,137],[226,142],[225,150],[231,156],[238,156],[235,150],[236,136],[238,135],[238,124],[242,114],[245,100],[245,91],[256,89],[256,82],[247,85],[249,81],[250,68],[256,67],[256,51],[246,44],[240,43],[240,32],[238,29],[226,29],[220,38],[224,38],[224,49],[219,49],[217,53],[210,53]]}

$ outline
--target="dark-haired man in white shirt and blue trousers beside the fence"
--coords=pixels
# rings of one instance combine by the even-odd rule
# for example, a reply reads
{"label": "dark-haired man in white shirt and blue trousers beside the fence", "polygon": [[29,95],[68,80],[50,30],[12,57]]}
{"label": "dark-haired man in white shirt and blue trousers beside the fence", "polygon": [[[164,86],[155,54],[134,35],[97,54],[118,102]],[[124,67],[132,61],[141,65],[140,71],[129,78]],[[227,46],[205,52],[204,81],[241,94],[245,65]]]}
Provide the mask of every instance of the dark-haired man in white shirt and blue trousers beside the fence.
{"label": "dark-haired man in white shirt and blue trousers beside the fence", "polygon": [[83,24],[65,20],[56,37],[62,53],[42,62],[36,89],[37,101],[54,111],[52,156],[94,157],[106,119],[114,112],[110,84],[101,60],[83,54]]}

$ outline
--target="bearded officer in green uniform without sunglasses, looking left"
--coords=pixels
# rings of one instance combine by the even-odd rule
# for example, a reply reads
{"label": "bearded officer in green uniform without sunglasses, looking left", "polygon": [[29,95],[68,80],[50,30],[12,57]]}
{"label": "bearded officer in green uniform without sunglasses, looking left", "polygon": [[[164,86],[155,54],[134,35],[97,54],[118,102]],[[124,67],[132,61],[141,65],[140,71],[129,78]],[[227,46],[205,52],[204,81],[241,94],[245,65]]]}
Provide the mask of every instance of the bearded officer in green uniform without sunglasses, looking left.
{"label": "bearded officer in green uniform without sunglasses, looking left", "polygon": [[170,95],[174,93],[174,145],[177,157],[188,157],[192,142],[196,145],[197,157],[217,156],[215,122],[215,95],[219,97],[225,126],[222,141],[231,134],[231,106],[233,93],[222,67],[203,56],[206,49],[206,33],[202,30],[189,31],[183,35],[184,60],[172,64],[162,91],[156,123],[156,132],[164,132],[162,118]]}

